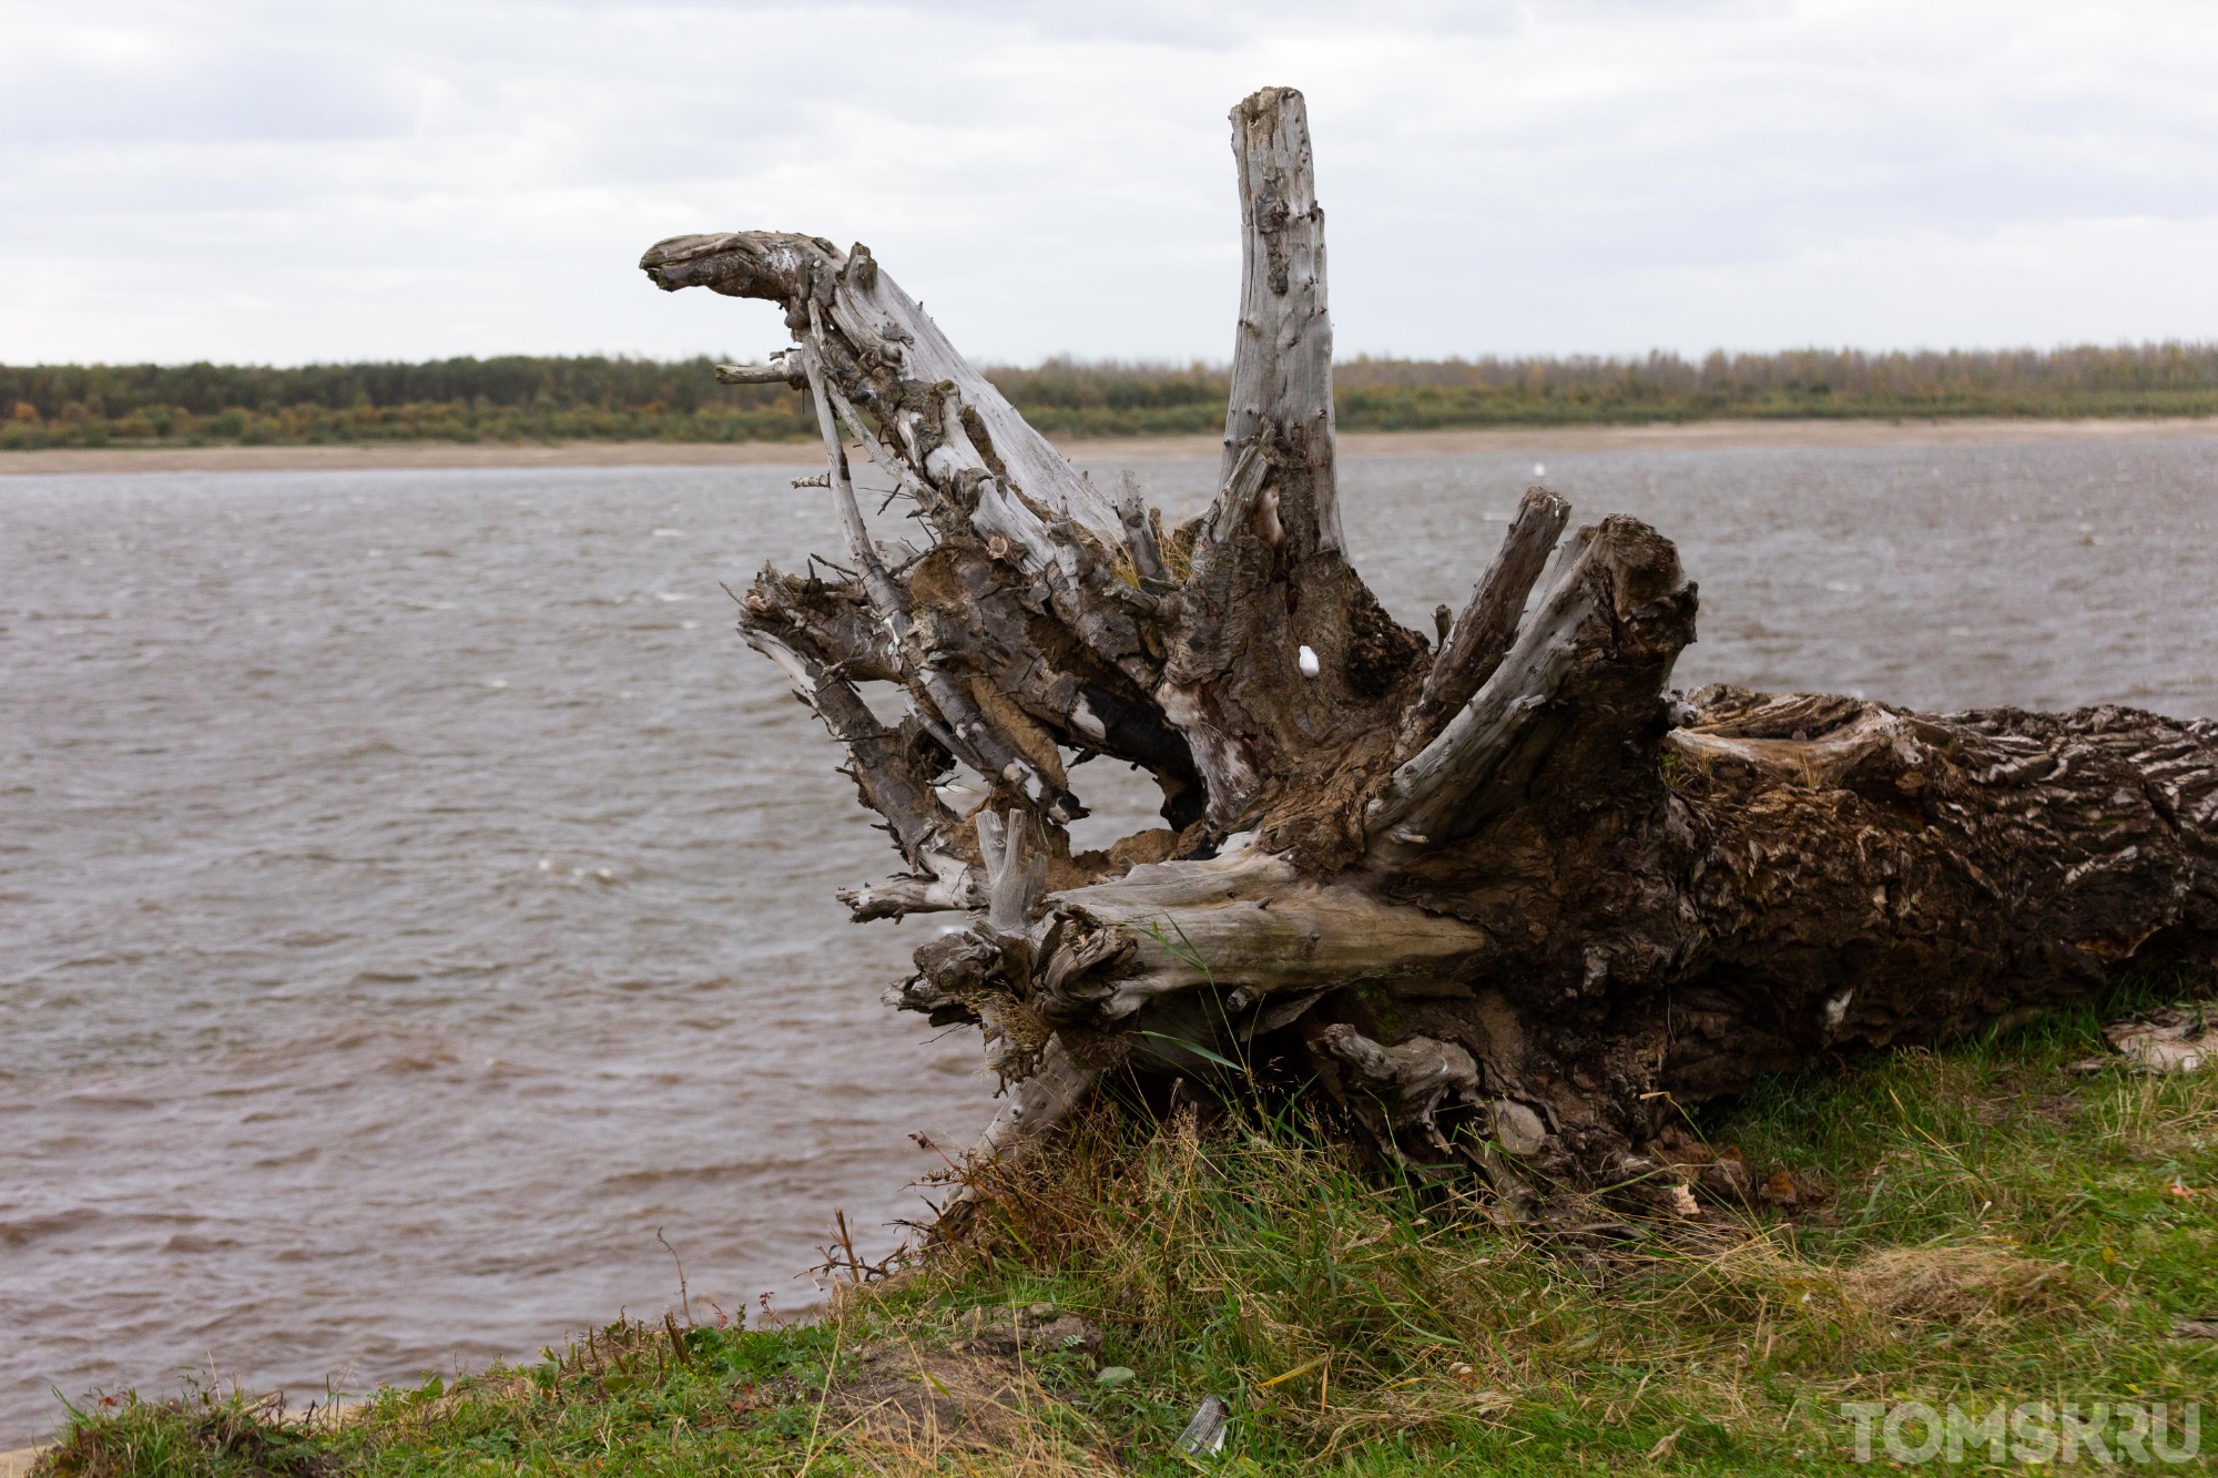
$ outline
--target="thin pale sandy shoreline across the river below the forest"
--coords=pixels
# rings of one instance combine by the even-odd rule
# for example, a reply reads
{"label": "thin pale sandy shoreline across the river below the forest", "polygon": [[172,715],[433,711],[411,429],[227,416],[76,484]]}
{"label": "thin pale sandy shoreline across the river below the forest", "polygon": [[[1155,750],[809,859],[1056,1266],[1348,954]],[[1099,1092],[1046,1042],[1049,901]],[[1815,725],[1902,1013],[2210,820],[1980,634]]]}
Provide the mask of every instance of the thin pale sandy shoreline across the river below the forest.
{"label": "thin pale sandy shoreline across the river below the forest", "polygon": [[[1349,431],[1340,453],[1486,455],[1581,451],[1721,451],[1741,446],[1978,446],[2023,442],[2120,442],[2211,437],[2218,417],[2176,419],[1766,419],[1650,426],[1486,426],[1471,431]],[[1215,435],[1058,437],[1074,462],[1213,457]],[[581,466],[814,466],[814,442],[353,442],[324,446],[58,446],[0,451],[0,477],[58,473],[306,473],[381,468],[581,468]]]}

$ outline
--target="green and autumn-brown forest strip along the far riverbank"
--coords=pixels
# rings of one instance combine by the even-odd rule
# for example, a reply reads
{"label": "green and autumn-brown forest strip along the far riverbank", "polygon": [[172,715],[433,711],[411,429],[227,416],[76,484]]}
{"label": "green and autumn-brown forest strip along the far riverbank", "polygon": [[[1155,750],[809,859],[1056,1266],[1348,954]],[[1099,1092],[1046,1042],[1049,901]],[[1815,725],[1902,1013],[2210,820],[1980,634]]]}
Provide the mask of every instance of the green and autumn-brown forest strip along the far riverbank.
{"label": "green and autumn-brown forest strip along the far riverbank", "polygon": [[[0,364],[0,448],[317,442],[781,442],[816,435],[785,386],[714,360],[497,355],[426,364]],[[987,377],[1049,435],[1224,424],[1213,364],[1047,360]],[[2014,351],[1346,360],[1342,431],[1701,419],[2218,415],[2218,342]]]}

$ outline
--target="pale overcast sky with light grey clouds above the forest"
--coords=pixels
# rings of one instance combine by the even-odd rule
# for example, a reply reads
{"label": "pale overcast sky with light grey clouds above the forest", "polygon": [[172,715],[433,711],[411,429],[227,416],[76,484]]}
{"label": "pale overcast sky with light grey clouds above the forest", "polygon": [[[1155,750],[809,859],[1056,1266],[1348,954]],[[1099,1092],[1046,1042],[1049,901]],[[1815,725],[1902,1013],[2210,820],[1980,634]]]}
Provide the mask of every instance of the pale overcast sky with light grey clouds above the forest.
{"label": "pale overcast sky with light grey clouds above the forest", "polygon": [[747,226],[1224,360],[1262,84],[1344,357],[2218,337],[2211,0],[0,0],[0,362],[756,355],[634,269]]}

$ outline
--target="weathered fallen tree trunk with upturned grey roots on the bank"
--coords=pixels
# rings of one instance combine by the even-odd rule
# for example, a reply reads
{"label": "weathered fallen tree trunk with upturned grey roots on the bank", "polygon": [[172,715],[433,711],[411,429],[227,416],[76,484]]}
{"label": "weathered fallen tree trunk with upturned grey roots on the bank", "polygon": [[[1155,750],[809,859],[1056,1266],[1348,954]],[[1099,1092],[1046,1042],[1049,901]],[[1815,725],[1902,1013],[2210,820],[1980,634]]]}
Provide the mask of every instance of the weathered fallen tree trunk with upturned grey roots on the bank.
{"label": "weathered fallen tree trunk with upturned grey roots on the bank", "polygon": [[[1302,98],[1231,120],[1224,462],[1178,530],[1074,470],[867,249],[745,231],[641,262],[785,308],[796,348],[723,373],[810,393],[847,548],[763,570],[741,632],[903,857],[854,917],[967,917],[889,999],[983,1027],[1007,1085],[983,1152],[1102,1074],[1235,1061],[1320,1083],[1404,1163],[1683,1207],[1644,1156],[1677,1105],[2218,961],[2211,721],[1681,697],[1672,544],[1606,517],[1559,546],[1539,488],[1437,655],[1395,624],[1342,553]],[[849,444],[916,548],[872,537]],[[1153,775],[1164,826],[1074,854],[1093,755]],[[985,799],[958,812],[960,772]]]}

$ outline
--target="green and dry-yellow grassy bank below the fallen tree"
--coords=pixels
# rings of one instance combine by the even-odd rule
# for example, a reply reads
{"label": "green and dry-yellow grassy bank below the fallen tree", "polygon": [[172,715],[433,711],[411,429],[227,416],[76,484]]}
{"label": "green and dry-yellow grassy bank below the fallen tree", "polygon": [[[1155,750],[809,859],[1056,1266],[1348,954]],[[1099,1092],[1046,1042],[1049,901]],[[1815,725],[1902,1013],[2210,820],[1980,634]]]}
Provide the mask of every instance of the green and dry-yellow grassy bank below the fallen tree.
{"label": "green and dry-yellow grassy bank below the fallen tree", "polygon": [[[821,1323],[612,1325],[339,1425],[120,1398],[49,1471],[1863,1471],[1841,1403],[1905,1398],[2165,1400],[2174,1423],[2200,1400],[2218,1451],[2218,1340],[2176,1336],[2218,1318],[2218,1074],[2076,1072],[2103,1019],[1697,1116],[1783,1172],[1701,1236],[1542,1241],[1284,1127],[1098,1118],[996,1187],[969,1245]],[[1065,1314],[1098,1356],[998,1334]],[[1176,1436],[1202,1394],[1233,1420],[1196,1460]]]}

